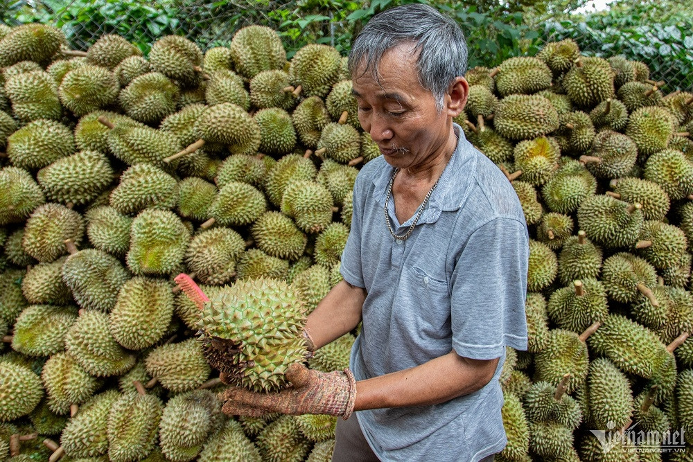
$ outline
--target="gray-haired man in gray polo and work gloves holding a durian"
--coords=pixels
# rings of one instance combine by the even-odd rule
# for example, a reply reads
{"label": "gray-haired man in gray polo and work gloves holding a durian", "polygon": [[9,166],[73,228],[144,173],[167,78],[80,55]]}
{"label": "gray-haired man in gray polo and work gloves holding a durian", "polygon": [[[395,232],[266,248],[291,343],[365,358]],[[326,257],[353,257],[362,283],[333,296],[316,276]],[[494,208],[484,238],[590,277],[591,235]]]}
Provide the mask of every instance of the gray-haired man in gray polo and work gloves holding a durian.
{"label": "gray-haired man in gray polo and work gloves holding a durian", "polygon": [[453,123],[464,36],[429,6],[392,8],[362,30],[349,70],[383,156],[356,179],[344,281],[306,337],[319,348],[362,321],[351,368],[294,365],[292,388],[234,389],[225,411],[342,416],[333,461],[492,460],[507,443],[505,348],[527,348],[529,247],[514,189]]}

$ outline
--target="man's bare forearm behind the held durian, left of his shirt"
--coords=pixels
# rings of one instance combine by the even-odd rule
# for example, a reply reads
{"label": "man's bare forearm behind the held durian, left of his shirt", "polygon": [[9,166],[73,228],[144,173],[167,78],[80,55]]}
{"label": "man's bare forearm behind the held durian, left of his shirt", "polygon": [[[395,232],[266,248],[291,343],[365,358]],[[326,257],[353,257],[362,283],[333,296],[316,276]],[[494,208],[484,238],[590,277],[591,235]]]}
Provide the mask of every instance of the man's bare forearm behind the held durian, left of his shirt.
{"label": "man's bare forearm behind the held durian, left of his shirt", "polygon": [[366,290],[340,281],[308,316],[306,332],[320,348],[342,337],[361,321]]}

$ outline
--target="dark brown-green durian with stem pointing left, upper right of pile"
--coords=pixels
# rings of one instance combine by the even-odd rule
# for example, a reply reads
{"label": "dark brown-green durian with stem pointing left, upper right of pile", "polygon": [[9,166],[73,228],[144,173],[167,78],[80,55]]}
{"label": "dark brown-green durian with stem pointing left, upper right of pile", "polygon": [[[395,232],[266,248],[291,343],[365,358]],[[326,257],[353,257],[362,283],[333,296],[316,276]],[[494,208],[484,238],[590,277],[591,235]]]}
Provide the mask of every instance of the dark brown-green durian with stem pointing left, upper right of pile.
{"label": "dark brown-green durian with stem pointing left, upper right of pile", "polygon": [[638,148],[628,136],[603,130],[595,136],[590,155],[582,156],[580,160],[598,178],[624,177],[638,160]]}

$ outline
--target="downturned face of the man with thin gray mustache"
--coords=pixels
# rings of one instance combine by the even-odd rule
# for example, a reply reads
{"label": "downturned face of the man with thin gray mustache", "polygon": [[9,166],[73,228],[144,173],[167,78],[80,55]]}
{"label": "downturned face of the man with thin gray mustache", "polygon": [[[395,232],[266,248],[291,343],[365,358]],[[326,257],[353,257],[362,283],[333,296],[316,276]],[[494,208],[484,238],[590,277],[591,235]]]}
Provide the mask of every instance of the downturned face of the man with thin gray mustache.
{"label": "downturned face of the man with thin gray mustache", "polygon": [[[444,149],[450,137],[451,117],[439,114],[433,94],[421,87],[416,75],[414,46],[391,48],[378,64],[379,78],[358,69],[353,93],[361,127],[378,143],[387,163],[416,168]],[[363,65],[363,64],[362,64]]]}

